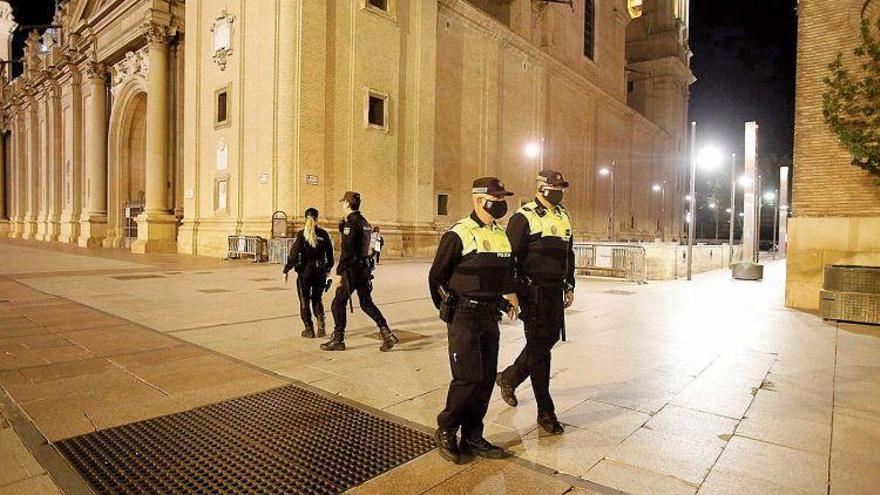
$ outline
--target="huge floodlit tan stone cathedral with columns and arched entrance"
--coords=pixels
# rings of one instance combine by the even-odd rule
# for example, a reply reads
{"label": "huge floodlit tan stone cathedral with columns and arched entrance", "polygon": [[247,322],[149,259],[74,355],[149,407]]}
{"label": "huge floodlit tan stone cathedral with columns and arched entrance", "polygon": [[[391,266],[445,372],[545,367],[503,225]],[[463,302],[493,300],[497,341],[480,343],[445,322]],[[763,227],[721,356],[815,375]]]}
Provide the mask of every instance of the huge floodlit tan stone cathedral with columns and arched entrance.
{"label": "huge floodlit tan stone cathedral with columns and arched entrance", "polygon": [[[223,256],[276,211],[334,226],[352,189],[391,254],[424,255],[474,177],[526,200],[543,166],[580,238],[675,240],[688,7],[67,0],[3,87],[0,235]],[[0,57],[14,26],[0,1]]]}

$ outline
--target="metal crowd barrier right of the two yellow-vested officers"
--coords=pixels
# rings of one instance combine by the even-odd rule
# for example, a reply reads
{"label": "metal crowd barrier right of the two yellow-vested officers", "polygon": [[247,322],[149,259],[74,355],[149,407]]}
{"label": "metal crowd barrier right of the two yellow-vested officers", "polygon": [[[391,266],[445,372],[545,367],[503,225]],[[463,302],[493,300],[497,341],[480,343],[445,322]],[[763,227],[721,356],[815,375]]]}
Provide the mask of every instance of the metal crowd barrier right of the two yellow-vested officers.
{"label": "metal crowd barrier right of the two yellow-vested officers", "polygon": [[586,275],[648,283],[647,254],[642,246],[575,242],[574,255],[575,269]]}

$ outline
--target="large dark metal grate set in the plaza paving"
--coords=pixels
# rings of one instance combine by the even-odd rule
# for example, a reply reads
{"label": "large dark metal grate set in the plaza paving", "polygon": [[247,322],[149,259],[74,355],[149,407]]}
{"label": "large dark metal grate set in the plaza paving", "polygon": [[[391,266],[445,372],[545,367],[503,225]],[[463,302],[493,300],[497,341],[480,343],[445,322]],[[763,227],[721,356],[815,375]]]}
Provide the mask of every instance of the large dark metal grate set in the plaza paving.
{"label": "large dark metal grate set in the plaza paving", "polygon": [[286,386],[57,446],[100,494],[336,494],[430,451],[433,442]]}

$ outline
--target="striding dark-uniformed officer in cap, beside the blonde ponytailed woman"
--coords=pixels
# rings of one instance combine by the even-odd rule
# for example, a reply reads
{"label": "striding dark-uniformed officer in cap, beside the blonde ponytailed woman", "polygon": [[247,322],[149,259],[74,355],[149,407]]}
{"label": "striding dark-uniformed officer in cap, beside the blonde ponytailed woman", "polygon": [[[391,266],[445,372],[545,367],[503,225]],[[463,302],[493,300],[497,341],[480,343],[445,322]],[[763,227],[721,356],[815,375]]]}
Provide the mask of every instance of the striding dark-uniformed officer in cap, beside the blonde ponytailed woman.
{"label": "striding dark-uniformed officer in cap, beside the blonde ponytailed woman", "polygon": [[361,215],[361,195],[348,191],[340,200],[345,218],[339,222],[339,234],[342,236],[342,252],[336,267],[336,295],[330,309],[333,312],[333,335],[330,340],[321,344],[325,351],[345,350],[346,306],[352,293],[358,293],[361,310],[379,327],[382,345],[379,350],[390,351],[398,342],[397,336],[388,328],[382,312],[376,307],[370,293],[373,290],[373,264],[370,258],[370,242],[373,228]]}

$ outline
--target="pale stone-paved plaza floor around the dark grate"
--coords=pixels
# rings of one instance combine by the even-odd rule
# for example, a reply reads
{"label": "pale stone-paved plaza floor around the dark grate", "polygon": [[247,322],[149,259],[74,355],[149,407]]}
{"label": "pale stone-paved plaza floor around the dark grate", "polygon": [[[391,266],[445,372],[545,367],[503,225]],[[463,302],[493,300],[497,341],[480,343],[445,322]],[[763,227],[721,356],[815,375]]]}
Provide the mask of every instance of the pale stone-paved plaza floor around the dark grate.
{"label": "pale stone-paved plaza floor around the dark grate", "polygon": [[[277,265],[0,241],[0,494],[88,493],[53,443],[291,383],[430,432],[450,372],[428,267],[376,272],[402,344],[380,353],[356,311],[348,350],[326,353],[299,336]],[[527,382],[487,416],[513,458],[432,451],[351,492],[880,492],[880,328],[785,308],[785,263],[766,268],[760,283],[580,279],[553,354],[565,435],[537,431]],[[522,325],[501,330],[506,365]]]}

